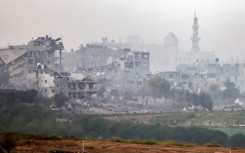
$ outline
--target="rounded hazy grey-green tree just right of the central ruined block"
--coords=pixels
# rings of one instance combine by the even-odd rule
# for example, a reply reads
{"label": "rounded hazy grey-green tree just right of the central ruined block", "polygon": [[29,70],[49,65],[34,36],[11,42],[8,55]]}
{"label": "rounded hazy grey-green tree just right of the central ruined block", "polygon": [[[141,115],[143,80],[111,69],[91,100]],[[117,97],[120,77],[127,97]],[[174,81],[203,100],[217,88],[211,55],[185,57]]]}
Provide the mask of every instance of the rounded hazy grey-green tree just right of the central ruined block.
{"label": "rounded hazy grey-green tree just right of the central ruined block", "polygon": [[150,95],[156,98],[169,97],[170,95],[170,83],[159,76],[154,76],[148,81]]}

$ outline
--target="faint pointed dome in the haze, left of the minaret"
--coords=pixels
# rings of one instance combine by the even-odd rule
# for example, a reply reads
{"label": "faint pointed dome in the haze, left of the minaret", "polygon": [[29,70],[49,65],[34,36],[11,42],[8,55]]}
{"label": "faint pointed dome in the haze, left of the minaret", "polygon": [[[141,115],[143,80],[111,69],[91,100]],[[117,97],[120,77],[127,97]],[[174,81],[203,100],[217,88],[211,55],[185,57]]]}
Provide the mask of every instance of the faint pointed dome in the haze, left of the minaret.
{"label": "faint pointed dome in the haze, left of the minaret", "polygon": [[178,49],[178,38],[172,32],[165,37],[164,48]]}

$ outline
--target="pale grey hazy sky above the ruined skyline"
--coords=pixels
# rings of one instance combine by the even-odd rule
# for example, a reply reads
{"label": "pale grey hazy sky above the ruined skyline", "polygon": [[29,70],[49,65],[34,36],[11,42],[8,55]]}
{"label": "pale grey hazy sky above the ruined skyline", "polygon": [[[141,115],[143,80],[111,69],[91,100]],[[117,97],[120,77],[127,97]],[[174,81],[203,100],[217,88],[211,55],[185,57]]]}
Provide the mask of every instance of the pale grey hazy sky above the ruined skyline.
{"label": "pale grey hazy sky above the ruined skyline", "polygon": [[0,0],[0,47],[46,34],[62,37],[67,50],[104,36],[163,43],[173,32],[189,51],[194,11],[201,50],[226,59],[245,55],[245,0]]}

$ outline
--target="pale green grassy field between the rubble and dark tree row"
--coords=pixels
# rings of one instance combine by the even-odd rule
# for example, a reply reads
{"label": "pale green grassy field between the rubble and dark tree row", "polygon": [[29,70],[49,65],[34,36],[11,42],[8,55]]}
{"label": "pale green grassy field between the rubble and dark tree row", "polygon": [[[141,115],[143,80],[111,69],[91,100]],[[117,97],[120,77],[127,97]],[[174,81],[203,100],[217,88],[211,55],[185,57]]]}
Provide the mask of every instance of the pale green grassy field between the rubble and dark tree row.
{"label": "pale green grassy field between the rubble and dark tree row", "polygon": [[105,118],[165,126],[201,126],[223,131],[229,136],[236,133],[245,134],[245,111],[167,112],[160,114],[114,115],[106,116]]}

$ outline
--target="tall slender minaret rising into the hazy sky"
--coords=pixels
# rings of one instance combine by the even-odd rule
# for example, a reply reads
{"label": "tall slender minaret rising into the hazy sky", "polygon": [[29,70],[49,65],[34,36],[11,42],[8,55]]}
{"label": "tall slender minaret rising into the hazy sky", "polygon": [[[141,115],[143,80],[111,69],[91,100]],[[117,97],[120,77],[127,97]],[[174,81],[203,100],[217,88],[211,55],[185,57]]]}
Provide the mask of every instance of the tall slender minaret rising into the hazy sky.
{"label": "tall slender minaret rising into the hazy sky", "polygon": [[191,51],[193,51],[193,52],[200,51],[200,48],[199,48],[200,37],[198,37],[198,28],[199,28],[198,18],[196,17],[196,12],[195,12],[195,16],[193,19],[193,25],[192,25],[193,33],[192,33],[192,37],[191,37],[191,40],[192,40]]}

